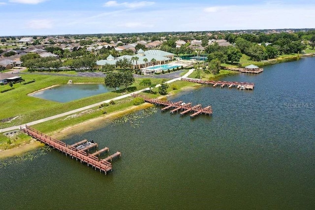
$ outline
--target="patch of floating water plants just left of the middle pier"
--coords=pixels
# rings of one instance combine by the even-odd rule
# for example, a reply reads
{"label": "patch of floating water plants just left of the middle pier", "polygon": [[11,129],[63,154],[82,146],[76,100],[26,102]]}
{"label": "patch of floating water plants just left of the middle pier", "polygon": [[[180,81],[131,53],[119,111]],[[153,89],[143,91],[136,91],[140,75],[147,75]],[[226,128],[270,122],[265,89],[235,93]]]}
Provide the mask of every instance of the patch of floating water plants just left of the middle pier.
{"label": "patch of floating water plants just left of the middle pier", "polygon": [[112,126],[117,125],[117,124],[129,123],[130,126],[134,128],[139,127],[143,123],[141,119],[147,118],[157,112],[158,112],[157,107],[151,107],[151,108],[144,109],[138,112],[133,112],[114,120],[112,122]]}

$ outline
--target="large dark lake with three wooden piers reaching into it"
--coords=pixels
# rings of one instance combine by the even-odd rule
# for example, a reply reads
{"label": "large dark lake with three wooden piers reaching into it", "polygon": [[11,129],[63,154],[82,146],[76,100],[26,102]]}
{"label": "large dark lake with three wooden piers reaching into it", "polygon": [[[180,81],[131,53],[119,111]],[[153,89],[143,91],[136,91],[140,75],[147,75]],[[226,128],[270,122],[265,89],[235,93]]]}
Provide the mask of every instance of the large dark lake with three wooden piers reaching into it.
{"label": "large dark lake with three wooden piers reaching into it", "polygon": [[315,58],[169,98],[212,105],[190,120],[150,108],[65,140],[122,152],[108,175],[56,150],[1,160],[0,209],[315,209]]}

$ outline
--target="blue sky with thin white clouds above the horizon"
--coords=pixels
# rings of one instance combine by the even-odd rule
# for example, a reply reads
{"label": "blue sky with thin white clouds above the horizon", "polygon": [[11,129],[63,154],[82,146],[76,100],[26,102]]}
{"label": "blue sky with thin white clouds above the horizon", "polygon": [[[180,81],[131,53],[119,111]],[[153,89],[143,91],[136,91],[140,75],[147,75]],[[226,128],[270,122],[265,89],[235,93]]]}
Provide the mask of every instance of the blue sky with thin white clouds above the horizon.
{"label": "blue sky with thin white clouds above the horizon", "polygon": [[315,28],[315,0],[0,0],[0,35]]}

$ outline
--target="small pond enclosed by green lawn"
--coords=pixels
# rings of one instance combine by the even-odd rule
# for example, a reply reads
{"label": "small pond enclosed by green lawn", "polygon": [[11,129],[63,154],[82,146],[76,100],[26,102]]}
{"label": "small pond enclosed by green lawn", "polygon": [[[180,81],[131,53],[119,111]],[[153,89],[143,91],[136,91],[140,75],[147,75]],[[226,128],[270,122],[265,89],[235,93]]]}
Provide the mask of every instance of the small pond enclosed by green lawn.
{"label": "small pond enclosed by green lawn", "polygon": [[113,90],[103,84],[68,84],[35,92],[30,96],[64,103]]}

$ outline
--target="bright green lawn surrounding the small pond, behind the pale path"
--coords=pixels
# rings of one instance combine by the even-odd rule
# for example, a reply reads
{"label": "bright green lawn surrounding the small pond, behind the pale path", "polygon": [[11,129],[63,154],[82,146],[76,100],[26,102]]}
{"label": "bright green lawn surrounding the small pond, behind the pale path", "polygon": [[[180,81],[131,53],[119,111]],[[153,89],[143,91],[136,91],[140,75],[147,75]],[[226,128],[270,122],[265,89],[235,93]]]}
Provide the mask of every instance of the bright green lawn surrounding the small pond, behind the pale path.
{"label": "bright green lawn surrounding the small pond, behind the pale path", "polygon": [[[91,105],[97,102],[108,100],[110,98],[117,97],[125,94],[126,92],[115,91],[107,92],[87,98],[70,101],[67,103],[59,103],[54,101],[48,101],[40,98],[28,96],[36,90],[47,88],[53,85],[66,84],[69,80],[74,83],[103,83],[104,78],[95,77],[65,77],[65,76],[53,76],[53,75],[23,75],[22,77],[26,82],[35,79],[36,82],[27,85],[14,84],[14,90],[0,93],[0,120],[19,116],[12,122],[0,122],[0,128],[23,124],[33,120],[43,119],[49,116],[57,115],[63,112],[67,112],[73,109],[81,108],[87,105]],[[151,79],[154,83],[160,83],[161,79]],[[140,79],[136,79],[135,83],[127,89],[127,91],[140,90],[145,87],[139,86]],[[0,86],[0,91],[9,89],[8,85]]]}

